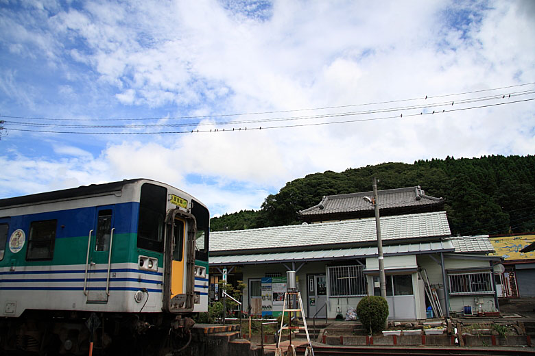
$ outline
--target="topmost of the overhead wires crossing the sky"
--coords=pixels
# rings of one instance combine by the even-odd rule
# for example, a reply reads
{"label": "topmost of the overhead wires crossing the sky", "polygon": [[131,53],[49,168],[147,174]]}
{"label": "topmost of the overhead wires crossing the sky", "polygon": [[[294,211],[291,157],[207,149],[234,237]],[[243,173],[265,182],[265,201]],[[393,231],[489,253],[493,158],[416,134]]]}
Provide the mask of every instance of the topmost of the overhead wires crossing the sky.
{"label": "topmost of the overhead wires crossing the sky", "polygon": [[[0,117],[3,118],[21,118],[25,120],[58,120],[58,121],[121,121],[121,120],[162,120],[162,119],[190,119],[190,118],[217,118],[217,117],[228,117],[228,116],[248,116],[248,115],[262,115],[262,114],[281,114],[281,113],[287,113],[287,112],[303,112],[303,111],[313,111],[313,110],[331,110],[331,109],[340,109],[344,107],[358,107],[358,106],[366,106],[366,105],[381,105],[381,104],[387,104],[387,103],[401,103],[405,101],[416,101],[416,100],[427,100],[427,99],[436,99],[436,98],[443,98],[443,97],[455,97],[458,95],[466,95],[466,94],[475,94],[478,92],[490,92],[493,90],[504,90],[504,89],[510,89],[510,88],[519,88],[521,86],[530,86],[534,85],[535,82],[532,83],[525,83],[525,84],[516,84],[514,86],[502,86],[499,88],[490,88],[490,89],[482,89],[482,90],[472,90],[468,92],[457,92],[457,93],[451,93],[451,94],[442,94],[442,95],[434,95],[434,96],[427,96],[425,97],[418,97],[418,98],[412,98],[412,99],[398,99],[398,100],[390,100],[390,101],[377,101],[374,103],[357,103],[357,104],[348,104],[348,105],[337,105],[337,106],[325,106],[325,107],[311,107],[311,108],[305,108],[305,109],[293,109],[293,110],[277,110],[277,111],[266,111],[266,112],[245,112],[245,113],[234,113],[234,114],[213,114],[213,115],[200,115],[200,116],[171,116],[171,117],[147,117],[147,118],[45,118],[45,117],[32,117],[32,116],[8,116],[8,115],[0,115]],[[507,93],[510,94],[510,93]]]}

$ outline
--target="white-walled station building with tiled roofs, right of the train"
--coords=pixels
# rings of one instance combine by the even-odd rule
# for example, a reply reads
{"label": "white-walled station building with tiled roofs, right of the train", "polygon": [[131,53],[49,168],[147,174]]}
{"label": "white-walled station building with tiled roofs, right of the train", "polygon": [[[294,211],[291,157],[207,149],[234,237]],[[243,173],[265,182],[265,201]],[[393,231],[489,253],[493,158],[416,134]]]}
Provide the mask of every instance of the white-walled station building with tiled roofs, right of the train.
{"label": "white-walled station building with tiled roofs, right of the train", "polygon": [[[243,310],[277,316],[286,271],[295,270],[308,318],[345,316],[380,294],[375,217],[364,196],[372,192],[326,196],[299,212],[302,225],[211,233],[211,288],[223,274],[241,280]],[[390,319],[426,318],[431,298],[444,316],[498,309],[502,259],[489,255],[488,236],[452,237],[444,199],[420,187],[380,190],[378,201]]]}

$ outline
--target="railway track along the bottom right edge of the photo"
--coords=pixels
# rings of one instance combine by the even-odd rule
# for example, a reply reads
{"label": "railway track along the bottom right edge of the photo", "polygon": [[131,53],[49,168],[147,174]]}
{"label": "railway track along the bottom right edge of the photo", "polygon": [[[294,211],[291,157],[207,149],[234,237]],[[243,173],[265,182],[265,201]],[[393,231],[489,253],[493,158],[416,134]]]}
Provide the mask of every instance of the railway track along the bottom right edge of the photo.
{"label": "railway track along the bottom right edge of the photo", "polygon": [[[305,345],[306,346],[306,345]],[[296,348],[297,355],[305,355],[305,346]],[[314,345],[314,355],[356,356],[356,355],[433,355],[433,356],[535,356],[534,348],[460,348],[460,347],[364,347],[364,346],[317,346]]]}

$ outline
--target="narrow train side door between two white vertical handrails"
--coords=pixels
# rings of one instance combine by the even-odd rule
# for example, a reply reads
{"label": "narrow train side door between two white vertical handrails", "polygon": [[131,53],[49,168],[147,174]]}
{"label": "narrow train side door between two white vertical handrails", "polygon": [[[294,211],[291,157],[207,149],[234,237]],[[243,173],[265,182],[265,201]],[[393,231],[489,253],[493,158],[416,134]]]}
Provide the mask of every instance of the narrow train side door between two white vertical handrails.
{"label": "narrow train side door between two white vertical handrails", "polygon": [[88,241],[86,294],[88,303],[107,303],[113,247],[114,205],[97,207]]}

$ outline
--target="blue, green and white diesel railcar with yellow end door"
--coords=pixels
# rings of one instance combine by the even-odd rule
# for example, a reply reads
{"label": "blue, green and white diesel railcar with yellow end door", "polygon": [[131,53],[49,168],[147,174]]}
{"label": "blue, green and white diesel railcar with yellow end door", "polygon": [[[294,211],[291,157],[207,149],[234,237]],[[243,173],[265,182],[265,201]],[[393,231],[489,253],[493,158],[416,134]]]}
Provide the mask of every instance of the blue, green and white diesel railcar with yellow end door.
{"label": "blue, green and white diesel railcar with yellow end door", "polygon": [[1,199],[0,353],[171,349],[208,307],[209,220],[148,179]]}

